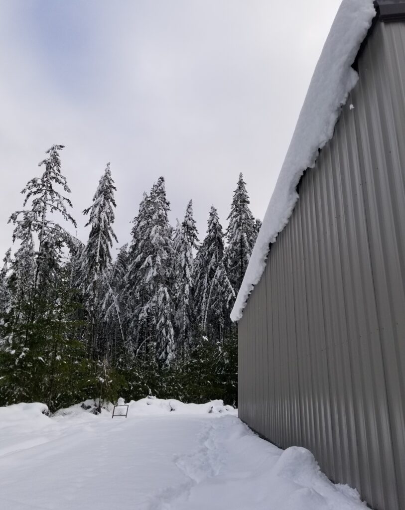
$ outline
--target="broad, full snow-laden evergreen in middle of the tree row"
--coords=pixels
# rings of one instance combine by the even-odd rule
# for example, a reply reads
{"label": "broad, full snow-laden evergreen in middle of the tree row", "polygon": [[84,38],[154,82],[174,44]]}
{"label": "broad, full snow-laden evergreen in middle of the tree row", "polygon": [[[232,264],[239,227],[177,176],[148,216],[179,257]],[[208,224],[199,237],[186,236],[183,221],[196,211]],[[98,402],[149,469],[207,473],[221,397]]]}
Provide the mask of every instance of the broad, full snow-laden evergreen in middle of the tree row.
{"label": "broad, full snow-laden evergreen in middle of the tree row", "polygon": [[[168,366],[174,356],[173,246],[163,177],[144,194],[134,219],[125,294],[129,301],[130,329],[137,354],[155,349],[156,359]],[[162,326],[164,324],[164,327]]]}

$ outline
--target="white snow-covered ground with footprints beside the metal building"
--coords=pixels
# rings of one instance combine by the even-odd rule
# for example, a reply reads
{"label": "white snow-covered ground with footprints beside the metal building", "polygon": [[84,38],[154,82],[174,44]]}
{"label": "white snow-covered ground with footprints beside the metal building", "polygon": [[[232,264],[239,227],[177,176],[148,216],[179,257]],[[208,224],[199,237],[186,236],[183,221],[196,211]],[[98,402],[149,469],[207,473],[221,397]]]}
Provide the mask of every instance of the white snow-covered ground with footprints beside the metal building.
{"label": "white snow-covered ground with footprints beside the metal building", "polygon": [[308,450],[263,441],[221,401],[142,399],[126,419],[44,409],[0,407],[1,510],[365,510]]}

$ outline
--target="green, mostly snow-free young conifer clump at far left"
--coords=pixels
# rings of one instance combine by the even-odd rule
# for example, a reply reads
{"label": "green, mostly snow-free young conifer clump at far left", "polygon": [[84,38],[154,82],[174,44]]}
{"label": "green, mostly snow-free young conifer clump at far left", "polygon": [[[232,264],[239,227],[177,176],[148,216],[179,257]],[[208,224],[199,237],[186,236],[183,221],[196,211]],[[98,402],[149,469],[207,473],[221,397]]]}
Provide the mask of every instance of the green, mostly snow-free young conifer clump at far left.
{"label": "green, mostly snow-free young conifer clump at far left", "polygon": [[[21,401],[44,402],[51,411],[86,398],[91,377],[83,344],[77,340],[74,302],[69,285],[70,268],[59,268],[61,276],[46,294],[33,302],[35,320],[20,319],[0,324],[6,341],[0,348],[0,405]],[[29,303],[22,303],[22,309]],[[28,312],[21,317],[30,317]]]}

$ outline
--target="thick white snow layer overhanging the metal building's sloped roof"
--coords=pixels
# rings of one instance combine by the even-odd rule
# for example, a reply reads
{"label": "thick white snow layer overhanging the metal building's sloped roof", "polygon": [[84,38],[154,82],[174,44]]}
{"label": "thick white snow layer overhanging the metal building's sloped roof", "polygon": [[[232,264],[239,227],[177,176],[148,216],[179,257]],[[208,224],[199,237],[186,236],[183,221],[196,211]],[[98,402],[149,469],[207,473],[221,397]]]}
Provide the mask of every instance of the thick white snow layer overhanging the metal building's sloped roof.
{"label": "thick white snow layer overhanging the metal building's sloped roof", "polygon": [[266,267],[270,244],[288,223],[298,199],[296,186],[301,175],[315,166],[318,150],[333,136],[341,107],[359,78],[351,65],[374,16],[372,0],[343,0],[340,5],[236,298],[231,313],[233,321],[242,318],[247,298]]}

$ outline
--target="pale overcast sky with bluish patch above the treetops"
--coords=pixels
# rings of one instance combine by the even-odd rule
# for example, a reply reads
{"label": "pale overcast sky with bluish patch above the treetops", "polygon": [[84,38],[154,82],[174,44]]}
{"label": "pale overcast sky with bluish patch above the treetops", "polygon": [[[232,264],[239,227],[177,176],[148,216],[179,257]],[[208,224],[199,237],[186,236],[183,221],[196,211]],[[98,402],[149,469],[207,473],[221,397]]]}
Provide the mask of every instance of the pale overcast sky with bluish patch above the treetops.
{"label": "pale overcast sky with bluish patch above the treetops", "polygon": [[115,232],[166,180],[170,220],[194,203],[226,226],[243,172],[263,218],[340,0],[0,0],[0,256],[8,217],[65,145],[78,236],[106,163]]}

